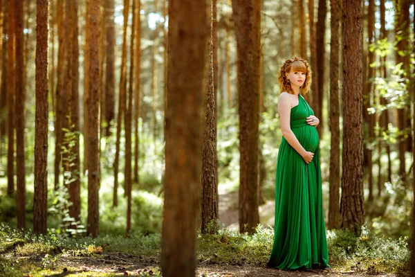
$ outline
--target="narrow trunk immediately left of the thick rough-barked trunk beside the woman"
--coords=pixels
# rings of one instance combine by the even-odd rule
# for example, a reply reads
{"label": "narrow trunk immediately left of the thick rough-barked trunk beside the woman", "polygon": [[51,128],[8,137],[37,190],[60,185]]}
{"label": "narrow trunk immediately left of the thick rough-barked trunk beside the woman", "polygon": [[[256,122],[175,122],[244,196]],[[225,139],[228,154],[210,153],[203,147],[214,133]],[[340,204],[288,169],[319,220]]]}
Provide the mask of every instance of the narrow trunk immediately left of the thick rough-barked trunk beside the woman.
{"label": "narrow trunk immediately left of the thick rough-barked trunk beside the woman", "polygon": [[330,48],[330,202],[329,229],[340,227],[340,107],[339,107],[339,39],[341,3],[331,0],[331,48]]}

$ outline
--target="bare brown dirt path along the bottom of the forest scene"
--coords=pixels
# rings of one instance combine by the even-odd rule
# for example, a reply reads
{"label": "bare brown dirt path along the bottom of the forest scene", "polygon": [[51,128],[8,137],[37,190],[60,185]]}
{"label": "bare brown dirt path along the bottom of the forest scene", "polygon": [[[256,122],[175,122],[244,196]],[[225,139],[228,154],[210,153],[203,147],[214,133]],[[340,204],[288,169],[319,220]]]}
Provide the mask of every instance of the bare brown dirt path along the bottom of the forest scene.
{"label": "bare brown dirt path along the bottom of the forest scene", "polygon": [[[91,273],[111,274],[113,276],[145,276],[160,272],[157,258],[131,256],[126,253],[104,254],[102,258],[67,256],[51,265],[50,277],[66,276],[69,274]],[[337,269],[331,271],[282,271],[266,267],[252,267],[250,265],[204,265],[199,262],[196,276],[200,277],[271,277],[271,276],[371,276],[367,271],[341,272]],[[376,276],[397,276],[395,274],[376,274]],[[400,274],[399,276],[405,276]],[[406,276],[410,276],[407,274]],[[180,277],[178,275],[178,277]]]}

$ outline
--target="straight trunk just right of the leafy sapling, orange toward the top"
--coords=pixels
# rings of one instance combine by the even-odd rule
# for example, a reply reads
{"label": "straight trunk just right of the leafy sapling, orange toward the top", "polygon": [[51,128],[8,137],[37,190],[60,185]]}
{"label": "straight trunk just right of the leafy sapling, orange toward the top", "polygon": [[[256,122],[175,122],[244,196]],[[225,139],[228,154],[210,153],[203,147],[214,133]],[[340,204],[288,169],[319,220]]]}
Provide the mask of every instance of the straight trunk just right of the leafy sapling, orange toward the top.
{"label": "straight trunk just right of the leafy sapling, orange toward the top", "polygon": [[93,238],[97,237],[100,228],[100,214],[98,209],[100,189],[100,37],[101,37],[101,3],[100,0],[91,0],[89,13],[89,28],[91,34],[91,48],[89,49],[89,134],[88,134],[88,228],[87,232]]}

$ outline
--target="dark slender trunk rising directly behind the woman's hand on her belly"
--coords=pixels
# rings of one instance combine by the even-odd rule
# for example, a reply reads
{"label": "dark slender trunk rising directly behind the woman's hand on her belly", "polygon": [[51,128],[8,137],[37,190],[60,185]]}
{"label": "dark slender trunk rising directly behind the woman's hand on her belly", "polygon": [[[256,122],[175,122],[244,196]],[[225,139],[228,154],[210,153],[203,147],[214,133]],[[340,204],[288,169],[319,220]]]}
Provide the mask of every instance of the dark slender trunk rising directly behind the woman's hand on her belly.
{"label": "dark slender trunk rising directly behind the woman's hand on her belly", "polygon": [[[325,47],[326,44],[324,42],[324,37],[326,33],[326,14],[327,14],[327,6],[326,6],[326,0],[319,0],[318,1],[318,21],[317,21],[317,31],[316,31],[316,53],[317,53],[317,69],[314,69],[315,71],[318,71],[317,78],[314,78],[314,80],[317,81],[317,87],[318,87],[318,96],[315,100],[314,104],[314,111],[315,116],[320,119],[320,124],[317,125],[317,131],[319,136],[322,136],[323,132],[323,98],[324,98],[324,71],[325,71],[325,60],[326,60],[326,54],[325,54]],[[311,53],[313,55],[313,53]],[[315,93],[317,94],[317,93]]]}

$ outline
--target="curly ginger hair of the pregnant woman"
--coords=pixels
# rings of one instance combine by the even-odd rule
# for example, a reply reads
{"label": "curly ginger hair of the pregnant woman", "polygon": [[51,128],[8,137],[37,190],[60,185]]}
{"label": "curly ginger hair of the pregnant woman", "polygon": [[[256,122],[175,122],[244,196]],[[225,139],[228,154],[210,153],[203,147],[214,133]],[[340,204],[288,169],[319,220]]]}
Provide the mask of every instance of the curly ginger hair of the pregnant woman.
{"label": "curly ginger hair of the pregnant woman", "polygon": [[278,72],[278,83],[279,91],[286,91],[288,93],[294,94],[294,91],[291,89],[291,84],[288,82],[286,73],[290,73],[291,69],[293,71],[304,72],[306,73],[306,81],[300,87],[302,93],[308,93],[311,85],[311,69],[308,62],[300,57],[291,57],[282,64],[281,69]]}

